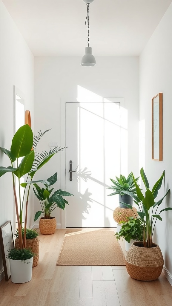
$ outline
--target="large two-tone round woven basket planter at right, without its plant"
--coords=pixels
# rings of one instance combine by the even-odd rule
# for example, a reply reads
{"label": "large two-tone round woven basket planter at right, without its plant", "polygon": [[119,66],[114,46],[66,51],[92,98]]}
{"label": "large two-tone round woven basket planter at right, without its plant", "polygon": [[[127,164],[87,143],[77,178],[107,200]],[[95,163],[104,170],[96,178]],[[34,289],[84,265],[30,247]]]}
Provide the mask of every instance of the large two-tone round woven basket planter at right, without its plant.
{"label": "large two-tone round woven basket planter at right, without its plant", "polygon": [[153,281],[159,278],[163,270],[163,255],[159,245],[152,243],[151,248],[138,246],[143,241],[134,242],[126,256],[128,274],[140,281]]}

